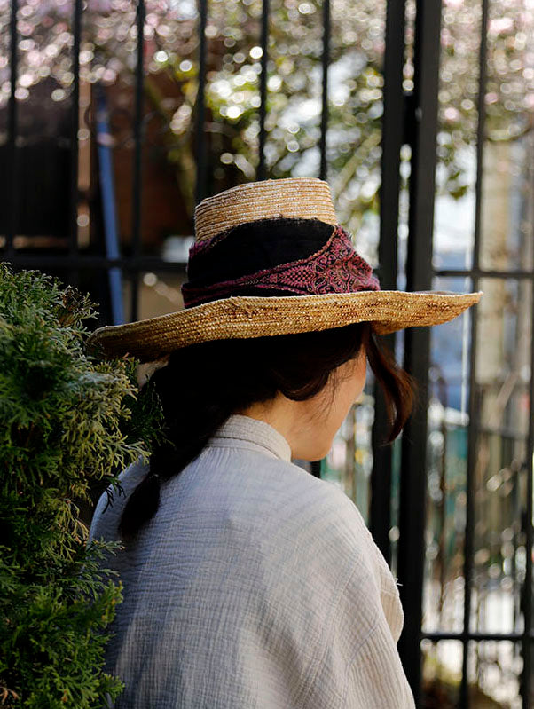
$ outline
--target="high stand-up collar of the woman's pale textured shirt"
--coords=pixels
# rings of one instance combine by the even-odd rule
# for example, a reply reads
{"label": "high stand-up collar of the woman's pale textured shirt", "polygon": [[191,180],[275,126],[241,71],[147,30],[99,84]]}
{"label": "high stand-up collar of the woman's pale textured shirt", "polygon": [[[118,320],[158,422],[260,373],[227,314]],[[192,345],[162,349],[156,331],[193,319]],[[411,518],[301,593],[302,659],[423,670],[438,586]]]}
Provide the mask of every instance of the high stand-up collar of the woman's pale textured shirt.
{"label": "high stand-up collar of the woman's pale textured shirt", "polygon": [[291,461],[291,448],[286,438],[265,421],[257,421],[249,416],[232,415],[216,431],[208,445],[231,446],[240,441],[247,441],[265,448],[282,461]]}

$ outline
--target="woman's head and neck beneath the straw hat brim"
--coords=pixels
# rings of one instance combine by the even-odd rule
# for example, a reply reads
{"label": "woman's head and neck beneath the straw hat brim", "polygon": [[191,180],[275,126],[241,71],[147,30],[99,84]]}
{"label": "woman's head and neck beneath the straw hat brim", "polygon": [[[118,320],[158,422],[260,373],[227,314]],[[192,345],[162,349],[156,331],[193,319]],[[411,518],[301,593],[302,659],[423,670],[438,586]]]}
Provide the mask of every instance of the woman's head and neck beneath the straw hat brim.
{"label": "woman's head and neck beneath the straw hat brim", "polygon": [[[154,384],[168,421],[182,418],[177,392],[172,393],[176,387],[182,401],[195,400],[184,409],[188,413],[177,424],[181,430],[194,429],[191,412],[209,402],[224,417],[244,414],[270,423],[286,437],[294,458],[315,461],[329,451],[364,388],[368,337],[368,326],[358,325],[347,331],[205,343],[171,355]],[[193,370],[198,382],[185,374]]]}

